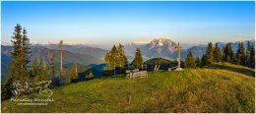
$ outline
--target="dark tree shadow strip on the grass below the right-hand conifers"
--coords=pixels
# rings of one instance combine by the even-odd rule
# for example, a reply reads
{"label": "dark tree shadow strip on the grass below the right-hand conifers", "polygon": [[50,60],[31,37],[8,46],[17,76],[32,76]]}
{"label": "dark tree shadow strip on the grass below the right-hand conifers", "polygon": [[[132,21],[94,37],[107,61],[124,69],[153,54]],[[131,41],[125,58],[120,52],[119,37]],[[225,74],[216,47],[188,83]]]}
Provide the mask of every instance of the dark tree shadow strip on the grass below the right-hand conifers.
{"label": "dark tree shadow strip on the grass below the right-hand conifers", "polygon": [[228,70],[228,71],[236,72],[239,74],[243,74],[243,75],[255,78],[255,71],[249,68],[243,68],[243,67],[237,68],[237,67],[231,67],[231,66],[219,65],[219,64],[208,65],[204,68],[223,69],[223,70]]}

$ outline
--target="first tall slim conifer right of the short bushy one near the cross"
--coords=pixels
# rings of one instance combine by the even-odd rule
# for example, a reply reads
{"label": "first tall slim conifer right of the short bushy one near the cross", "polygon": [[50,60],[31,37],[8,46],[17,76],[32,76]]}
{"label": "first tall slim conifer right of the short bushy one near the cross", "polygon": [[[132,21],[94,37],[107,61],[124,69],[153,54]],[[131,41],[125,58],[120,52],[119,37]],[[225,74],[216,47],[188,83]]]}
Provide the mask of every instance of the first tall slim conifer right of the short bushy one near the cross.
{"label": "first tall slim conifer right of the short bushy one near the cross", "polygon": [[213,43],[208,43],[208,47],[206,50],[206,64],[212,64],[214,62],[214,48]]}

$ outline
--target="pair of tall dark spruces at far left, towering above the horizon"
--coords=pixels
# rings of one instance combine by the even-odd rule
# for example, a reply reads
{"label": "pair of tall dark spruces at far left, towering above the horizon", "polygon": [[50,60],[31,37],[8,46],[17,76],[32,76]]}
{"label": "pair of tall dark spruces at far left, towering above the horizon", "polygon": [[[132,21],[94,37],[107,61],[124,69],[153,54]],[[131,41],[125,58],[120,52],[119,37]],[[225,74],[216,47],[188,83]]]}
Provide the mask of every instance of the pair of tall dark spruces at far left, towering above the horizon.
{"label": "pair of tall dark spruces at far left, towering above the horizon", "polygon": [[3,85],[1,92],[2,99],[12,96],[11,89],[13,83],[20,81],[22,84],[29,81],[30,72],[28,65],[30,62],[30,40],[27,36],[27,30],[19,24],[15,27],[12,36],[13,51],[11,52],[11,62],[9,64],[9,73],[7,80]]}

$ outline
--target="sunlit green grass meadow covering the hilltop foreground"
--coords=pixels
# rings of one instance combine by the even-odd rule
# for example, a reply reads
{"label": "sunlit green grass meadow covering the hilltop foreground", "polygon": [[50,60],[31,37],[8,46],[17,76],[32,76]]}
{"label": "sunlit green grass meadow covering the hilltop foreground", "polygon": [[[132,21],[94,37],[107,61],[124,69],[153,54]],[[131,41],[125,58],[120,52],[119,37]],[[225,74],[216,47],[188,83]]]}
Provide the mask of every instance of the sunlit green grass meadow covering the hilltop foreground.
{"label": "sunlit green grass meadow covering the hilltop foreground", "polygon": [[[255,112],[254,73],[242,66],[216,64],[151,72],[144,79],[103,78],[56,87],[51,96],[55,101],[46,106],[3,101],[2,112]],[[35,96],[41,97],[19,98]]]}

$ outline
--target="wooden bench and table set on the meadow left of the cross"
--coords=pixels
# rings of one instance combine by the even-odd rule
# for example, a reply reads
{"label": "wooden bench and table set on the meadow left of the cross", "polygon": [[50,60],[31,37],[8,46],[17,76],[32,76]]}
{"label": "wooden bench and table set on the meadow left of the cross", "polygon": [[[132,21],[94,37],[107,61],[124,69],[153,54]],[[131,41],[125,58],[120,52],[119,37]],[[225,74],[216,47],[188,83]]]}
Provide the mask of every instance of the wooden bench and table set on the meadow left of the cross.
{"label": "wooden bench and table set on the meadow left of the cross", "polygon": [[145,78],[148,77],[147,71],[136,70],[126,70],[127,78]]}

